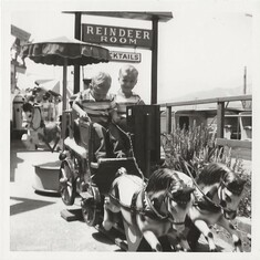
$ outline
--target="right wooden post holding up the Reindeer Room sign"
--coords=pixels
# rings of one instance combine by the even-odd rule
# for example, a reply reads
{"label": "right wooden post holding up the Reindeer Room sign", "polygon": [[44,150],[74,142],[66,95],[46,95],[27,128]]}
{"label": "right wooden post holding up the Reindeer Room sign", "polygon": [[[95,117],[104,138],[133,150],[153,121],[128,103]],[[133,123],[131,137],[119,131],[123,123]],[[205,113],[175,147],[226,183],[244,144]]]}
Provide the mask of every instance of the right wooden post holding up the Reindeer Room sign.
{"label": "right wooden post holding up the Reindeer Room sign", "polygon": [[157,64],[158,64],[158,18],[153,17],[153,49],[152,49],[152,93],[150,104],[157,103]]}

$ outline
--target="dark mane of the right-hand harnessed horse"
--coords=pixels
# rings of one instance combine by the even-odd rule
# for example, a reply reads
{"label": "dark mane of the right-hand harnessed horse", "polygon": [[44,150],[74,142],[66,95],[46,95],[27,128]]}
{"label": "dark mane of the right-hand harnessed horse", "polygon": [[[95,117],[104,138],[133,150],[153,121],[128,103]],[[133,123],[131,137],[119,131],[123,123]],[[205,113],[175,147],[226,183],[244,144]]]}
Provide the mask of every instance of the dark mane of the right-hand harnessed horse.
{"label": "dark mane of the right-hand harnessed horse", "polygon": [[211,163],[204,167],[196,179],[197,184],[210,186],[221,183],[233,194],[241,194],[246,180],[238,174],[233,173],[226,165],[220,163]]}

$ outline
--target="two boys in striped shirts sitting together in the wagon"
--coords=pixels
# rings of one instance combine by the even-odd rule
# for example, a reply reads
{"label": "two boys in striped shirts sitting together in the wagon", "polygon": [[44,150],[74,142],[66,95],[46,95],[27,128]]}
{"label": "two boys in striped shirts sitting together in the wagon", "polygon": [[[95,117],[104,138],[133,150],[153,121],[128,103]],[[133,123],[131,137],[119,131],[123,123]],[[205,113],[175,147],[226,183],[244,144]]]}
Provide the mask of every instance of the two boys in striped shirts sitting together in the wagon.
{"label": "two boys in striped shirts sitting together in the wagon", "polygon": [[80,117],[93,122],[93,127],[100,143],[95,149],[96,159],[106,157],[105,137],[108,132],[110,142],[115,157],[125,157],[122,135],[116,127],[126,125],[126,106],[144,104],[141,97],[132,92],[137,83],[138,71],[126,65],[119,70],[118,81],[121,90],[117,95],[108,94],[112,79],[105,72],[98,72],[93,76],[90,89],[80,92],[72,104],[72,108]]}

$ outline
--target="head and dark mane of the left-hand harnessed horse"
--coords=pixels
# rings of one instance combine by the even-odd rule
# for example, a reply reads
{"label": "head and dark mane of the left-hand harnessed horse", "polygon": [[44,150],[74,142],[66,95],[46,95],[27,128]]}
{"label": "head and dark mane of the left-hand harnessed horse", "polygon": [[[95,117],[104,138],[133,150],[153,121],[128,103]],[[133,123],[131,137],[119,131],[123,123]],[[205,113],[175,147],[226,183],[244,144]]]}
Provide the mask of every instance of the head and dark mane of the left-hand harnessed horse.
{"label": "head and dark mane of the left-hand harnessed horse", "polygon": [[152,209],[162,218],[168,218],[178,232],[185,228],[185,218],[191,207],[190,194],[195,190],[187,185],[187,178],[183,173],[162,168],[150,176],[146,188]]}

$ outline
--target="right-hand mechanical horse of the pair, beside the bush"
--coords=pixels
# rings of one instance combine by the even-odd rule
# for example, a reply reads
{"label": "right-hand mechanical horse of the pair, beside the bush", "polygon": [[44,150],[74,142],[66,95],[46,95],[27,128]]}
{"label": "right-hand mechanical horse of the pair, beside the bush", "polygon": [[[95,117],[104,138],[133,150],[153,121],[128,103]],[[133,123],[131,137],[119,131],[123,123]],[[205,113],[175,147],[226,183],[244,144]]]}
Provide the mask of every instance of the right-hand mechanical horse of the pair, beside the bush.
{"label": "right-hand mechanical horse of the pair, beside the bush", "polygon": [[[242,251],[241,240],[230,220],[237,216],[246,180],[220,163],[210,163],[195,179],[195,204],[189,209],[186,225],[190,248],[196,249],[200,233],[208,241],[209,250],[217,251],[211,225],[223,227],[232,237],[235,251]],[[191,220],[191,221],[190,221]]]}

